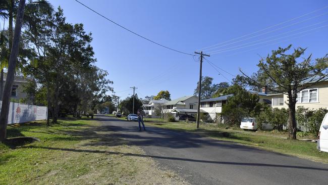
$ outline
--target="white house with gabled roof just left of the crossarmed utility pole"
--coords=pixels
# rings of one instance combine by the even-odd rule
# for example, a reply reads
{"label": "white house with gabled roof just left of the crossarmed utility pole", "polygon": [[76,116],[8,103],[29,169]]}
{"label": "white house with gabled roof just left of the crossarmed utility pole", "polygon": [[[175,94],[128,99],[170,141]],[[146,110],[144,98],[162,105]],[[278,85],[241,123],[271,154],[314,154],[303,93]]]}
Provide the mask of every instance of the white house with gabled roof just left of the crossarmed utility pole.
{"label": "white house with gabled roof just left of the crossarmed utility pole", "polygon": [[163,112],[172,113],[175,117],[179,115],[197,116],[197,106],[197,96],[184,96],[165,103]]}

